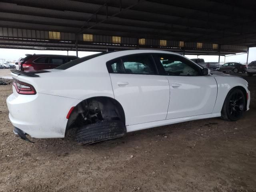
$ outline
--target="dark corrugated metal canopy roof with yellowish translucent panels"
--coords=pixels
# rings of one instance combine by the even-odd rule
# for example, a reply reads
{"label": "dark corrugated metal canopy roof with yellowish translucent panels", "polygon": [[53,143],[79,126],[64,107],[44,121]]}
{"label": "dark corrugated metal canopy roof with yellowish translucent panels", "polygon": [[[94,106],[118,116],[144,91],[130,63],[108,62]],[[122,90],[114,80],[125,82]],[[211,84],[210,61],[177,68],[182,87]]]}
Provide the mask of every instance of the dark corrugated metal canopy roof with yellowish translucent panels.
{"label": "dark corrugated metal canopy roof with yellowish translucent panels", "polygon": [[0,48],[226,55],[256,46],[255,0],[1,0]]}

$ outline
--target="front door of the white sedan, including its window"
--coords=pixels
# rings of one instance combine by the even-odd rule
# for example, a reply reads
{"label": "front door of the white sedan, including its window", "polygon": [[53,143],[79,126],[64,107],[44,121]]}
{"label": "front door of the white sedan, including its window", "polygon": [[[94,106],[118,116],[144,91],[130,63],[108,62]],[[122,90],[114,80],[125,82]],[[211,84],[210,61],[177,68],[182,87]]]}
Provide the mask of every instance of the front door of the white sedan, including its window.
{"label": "front door of the white sedan, including its window", "polygon": [[154,54],[154,59],[170,85],[166,119],[212,113],[217,97],[213,76],[203,76],[202,68],[182,56]]}

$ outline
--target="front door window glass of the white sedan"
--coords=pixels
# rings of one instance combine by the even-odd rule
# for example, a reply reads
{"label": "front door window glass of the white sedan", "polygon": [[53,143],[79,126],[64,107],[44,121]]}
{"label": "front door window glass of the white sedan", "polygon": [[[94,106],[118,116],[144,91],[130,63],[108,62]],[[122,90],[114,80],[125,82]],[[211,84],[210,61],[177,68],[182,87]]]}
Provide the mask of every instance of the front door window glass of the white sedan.
{"label": "front door window glass of the white sedan", "polygon": [[193,62],[186,58],[169,55],[157,54],[155,56],[156,62],[164,68],[165,74],[170,76],[200,76],[201,69]]}

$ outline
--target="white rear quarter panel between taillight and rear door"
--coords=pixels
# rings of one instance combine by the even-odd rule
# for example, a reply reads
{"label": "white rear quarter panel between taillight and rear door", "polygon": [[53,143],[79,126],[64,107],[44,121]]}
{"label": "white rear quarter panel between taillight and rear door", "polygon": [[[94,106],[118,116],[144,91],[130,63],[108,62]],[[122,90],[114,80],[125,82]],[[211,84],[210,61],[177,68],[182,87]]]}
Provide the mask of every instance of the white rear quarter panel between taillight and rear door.
{"label": "white rear quarter panel between taillight and rear door", "polygon": [[40,73],[40,77],[18,76],[36,92],[84,100],[94,96],[114,98],[106,61],[91,59],[66,70]]}

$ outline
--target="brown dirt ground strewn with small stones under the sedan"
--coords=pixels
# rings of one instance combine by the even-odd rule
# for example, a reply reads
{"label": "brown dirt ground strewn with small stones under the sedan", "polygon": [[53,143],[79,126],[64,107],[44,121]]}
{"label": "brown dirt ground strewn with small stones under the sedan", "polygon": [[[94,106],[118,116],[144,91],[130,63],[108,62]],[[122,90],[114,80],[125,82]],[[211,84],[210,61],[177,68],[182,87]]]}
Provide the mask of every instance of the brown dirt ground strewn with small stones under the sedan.
{"label": "brown dirt ground strewn with small stones under the sedan", "polygon": [[[246,76],[246,74],[240,74]],[[256,192],[256,76],[237,122],[197,120],[79,146],[16,138],[0,86],[0,191]]]}

